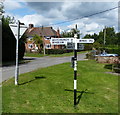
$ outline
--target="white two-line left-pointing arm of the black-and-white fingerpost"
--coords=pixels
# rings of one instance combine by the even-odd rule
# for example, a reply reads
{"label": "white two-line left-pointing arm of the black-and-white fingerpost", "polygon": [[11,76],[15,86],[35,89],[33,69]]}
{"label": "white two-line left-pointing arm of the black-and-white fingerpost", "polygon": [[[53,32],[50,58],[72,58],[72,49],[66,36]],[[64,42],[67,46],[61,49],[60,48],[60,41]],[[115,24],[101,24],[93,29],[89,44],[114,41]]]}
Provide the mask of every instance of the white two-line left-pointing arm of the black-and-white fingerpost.
{"label": "white two-line left-pointing arm of the black-and-white fingerpost", "polygon": [[51,45],[67,45],[67,42],[73,42],[74,38],[51,38]]}

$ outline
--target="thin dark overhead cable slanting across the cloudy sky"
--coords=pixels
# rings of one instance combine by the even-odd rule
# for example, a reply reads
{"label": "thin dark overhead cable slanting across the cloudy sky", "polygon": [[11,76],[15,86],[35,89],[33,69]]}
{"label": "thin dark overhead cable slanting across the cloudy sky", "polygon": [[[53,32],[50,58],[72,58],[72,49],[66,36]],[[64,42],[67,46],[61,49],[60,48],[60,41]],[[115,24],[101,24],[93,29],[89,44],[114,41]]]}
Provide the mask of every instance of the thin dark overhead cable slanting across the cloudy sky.
{"label": "thin dark overhead cable slanting across the cloudy sky", "polygon": [[63,22],[55,23],[55,24],[50,24],[49,26],[59,25],[59,24],[71,22],[71,21],[74,21],[74,20],[91,17],[91,16],[94,16],[94,15],[98,15],[98,14],[101,14],[101,13],[105,13],[105,12],[108,12],[108,11],[111,11],[111,10],[114,10],[114,9],[117,9],[117,8],[119,8],[119,7],[120,7],[120,6],[118,6],[118,7],[113,7],[113,8],[110,8],[110,9],[107,9],[107,10],[104,10],[104,11],[100,11],[100,12],[97,12],[97,13],[94,13],[94,14],[90,14],[90,15],[87,15],[87,16],[83,16],[83,17],[80,17],[80,18],[75,18],[75,19],[66,20],[66,21],[63,21]]}

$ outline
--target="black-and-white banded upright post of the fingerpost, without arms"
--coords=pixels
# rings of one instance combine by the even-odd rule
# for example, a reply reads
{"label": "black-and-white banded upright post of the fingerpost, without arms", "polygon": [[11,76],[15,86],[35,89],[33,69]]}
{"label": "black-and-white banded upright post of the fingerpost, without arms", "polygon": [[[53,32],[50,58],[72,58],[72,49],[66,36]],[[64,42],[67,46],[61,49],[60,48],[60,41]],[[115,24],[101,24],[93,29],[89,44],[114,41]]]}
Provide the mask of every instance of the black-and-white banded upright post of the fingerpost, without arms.
{"label": "black-and-white banded upright post of the fingerpost, without arms", "polygon": [[74,35],[75,49],[74,49],[74,106],[76,106],[77,97],[77,34]]}

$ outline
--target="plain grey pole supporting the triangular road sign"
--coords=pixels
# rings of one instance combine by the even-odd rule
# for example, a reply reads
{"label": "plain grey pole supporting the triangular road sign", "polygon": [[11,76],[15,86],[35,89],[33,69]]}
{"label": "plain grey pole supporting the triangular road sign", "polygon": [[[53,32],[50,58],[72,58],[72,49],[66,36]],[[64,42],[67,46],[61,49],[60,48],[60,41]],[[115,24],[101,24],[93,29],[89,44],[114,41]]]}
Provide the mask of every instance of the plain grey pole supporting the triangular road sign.
{"label": "plain grey pole supporting the triangular road sign", "polygon": [[18,33],[16,39],[16,68],[15,68],[15,85],[18,85],[18,74],[19,74],[19,65],[18,65],[18,45],[19,45],[19,36],[20,36],[20,22],[18,20]]}

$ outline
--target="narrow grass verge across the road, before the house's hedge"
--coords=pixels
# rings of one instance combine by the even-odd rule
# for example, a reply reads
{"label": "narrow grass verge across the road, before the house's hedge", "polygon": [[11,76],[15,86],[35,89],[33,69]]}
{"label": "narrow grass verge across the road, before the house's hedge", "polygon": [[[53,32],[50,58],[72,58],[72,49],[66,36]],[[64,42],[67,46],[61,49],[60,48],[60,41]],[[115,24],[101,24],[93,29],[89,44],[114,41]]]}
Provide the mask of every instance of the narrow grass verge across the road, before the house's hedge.
{"label": "narrow grass verge across the road, before the house's hedge", "polygon": [[[81,52],[78,52],[78,54],[81,54],[81,53],[86,53],[88,51],[81,51]],[[51,56],[51,57],[64,57],[64,56],[72,56],[74,55],[73,52],[71,53],[64,53],[64,54],[46,54],[45,56]],[[26,57],[43,57],[44,54],[39,54],[39,53],[25,53],[25,56]]]}

